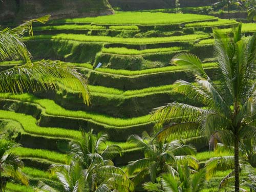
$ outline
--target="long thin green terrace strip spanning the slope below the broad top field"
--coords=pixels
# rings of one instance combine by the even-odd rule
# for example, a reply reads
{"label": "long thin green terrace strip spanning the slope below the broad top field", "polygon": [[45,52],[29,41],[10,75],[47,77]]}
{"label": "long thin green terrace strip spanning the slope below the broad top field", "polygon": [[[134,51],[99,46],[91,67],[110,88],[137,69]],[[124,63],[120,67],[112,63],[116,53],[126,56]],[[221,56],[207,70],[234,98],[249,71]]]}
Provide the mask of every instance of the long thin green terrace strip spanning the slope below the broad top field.
{"label": "long thin green terrace strip spanning the slope below the broad top field", "polygon": [[[156,42],[173,42],[173,41],[193,41],[200,38],[207,38],[209,34],[192,34],[183,36],[170,37],[152,37],[152,38],[121,38],[109,36],[88,36],[82,34],[57,34],[57,35],[35,35],[33,39],[64,39],[87,42],[123,42],[129,44],[153,44]],[[32,37],[25,37],[25,40]]]}

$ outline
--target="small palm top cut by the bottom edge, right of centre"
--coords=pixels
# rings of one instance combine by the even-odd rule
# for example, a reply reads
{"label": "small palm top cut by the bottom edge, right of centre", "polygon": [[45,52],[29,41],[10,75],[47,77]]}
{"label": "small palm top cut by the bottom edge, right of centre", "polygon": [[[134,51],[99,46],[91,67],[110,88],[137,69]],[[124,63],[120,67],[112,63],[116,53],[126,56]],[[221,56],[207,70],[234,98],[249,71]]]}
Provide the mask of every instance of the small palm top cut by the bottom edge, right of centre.
{"label": "small palm top cut by the bottom edge, right of centre", "polygon": [[[191,170],[188,164],[184,166],[177,166],[177,176],[165,173],[161,175],[161,184],[155,184],[147,182],[143,184],[144,189],[152,192],[199,192],[203,189],[205,182],[205,169],[201,169],[200,172],[191,174]],[[192,177],[191,177],[192,176]]]}

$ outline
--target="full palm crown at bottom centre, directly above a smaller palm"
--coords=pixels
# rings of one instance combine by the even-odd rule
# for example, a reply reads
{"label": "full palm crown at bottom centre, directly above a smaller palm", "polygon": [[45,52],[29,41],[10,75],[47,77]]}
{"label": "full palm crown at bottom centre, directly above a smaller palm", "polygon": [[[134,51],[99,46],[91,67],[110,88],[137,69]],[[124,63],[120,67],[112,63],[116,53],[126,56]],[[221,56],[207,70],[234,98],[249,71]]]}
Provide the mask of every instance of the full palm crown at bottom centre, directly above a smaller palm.
{"label": "full palm crown at bottom centre, directly above a smaller palm", "polygon": [[142,148],[145,158],[129,162],[129,174],[135,174],[132,179],[135,185],[144,181],[150,176],[151,181],[155,182],[156,177],[164,172],[175,173],[174,167],[177,163],[188,162],[195,169],[198,162],[195,158],[188,155],[195,155],[196,149],[193,146],[185,145],[181,141],[175,140],[169,143],[152,140],[146,133],[143,139],[138,135],[132,135],[128,141]]}

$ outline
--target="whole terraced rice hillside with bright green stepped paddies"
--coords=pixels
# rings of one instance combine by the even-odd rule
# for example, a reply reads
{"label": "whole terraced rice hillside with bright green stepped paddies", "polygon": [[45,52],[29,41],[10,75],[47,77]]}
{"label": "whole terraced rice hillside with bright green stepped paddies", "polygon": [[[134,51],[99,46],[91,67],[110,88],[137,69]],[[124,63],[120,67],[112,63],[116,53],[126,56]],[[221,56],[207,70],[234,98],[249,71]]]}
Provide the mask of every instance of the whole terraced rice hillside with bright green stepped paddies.
{"label": "whole terraced rice hillside with bright green stepped paddies", "polygon": [[[101,150],[109,144],[122,147],[123,155],[113,161],[127,170],[127,162],[144,156],[141,148],[127,142],[127,138],[144,131],[153,133],[153,108],[173,101],[204,107],[175,91],[176,80],[194,79],[185,72],[186,68],[170,64],[173,56],[182,52],[197,54],[209,76],[214,77],[219,69],[212,54],[212,29],[228,33],[237,25],[235,20],[214,16],[161,12],[116,12],[108,16],[53,19],[44,26],[36,25],[34,37],[25,37],[33,58],[59,60],[86,76],[92,104],[83,104],[79,91],[63,86],[62,79],[56,80],[55,91],[0,94],[0,131],[22,144],[14,151],[25,162],[24,172],[31,186],[37,186],[40,180],[63,191],[47,169],[51,164],[67,163],[68,143],[81,138],[81,127],[109,135]],[[250,35],[256,26],[243,24],[242,31]],[[0,62],[0,70],[23,64]],[[195,157],[201,167],[212,157],[233,155],[228,150],[205,152],[208,140],[200,133],[173,136],[180,138],[197,147],[199,153]],[[215,173],[205,183],[203,192],[217,191],[219,182],[229,172],[226,167]],[[6,191],[34,189],[8,183]]]}

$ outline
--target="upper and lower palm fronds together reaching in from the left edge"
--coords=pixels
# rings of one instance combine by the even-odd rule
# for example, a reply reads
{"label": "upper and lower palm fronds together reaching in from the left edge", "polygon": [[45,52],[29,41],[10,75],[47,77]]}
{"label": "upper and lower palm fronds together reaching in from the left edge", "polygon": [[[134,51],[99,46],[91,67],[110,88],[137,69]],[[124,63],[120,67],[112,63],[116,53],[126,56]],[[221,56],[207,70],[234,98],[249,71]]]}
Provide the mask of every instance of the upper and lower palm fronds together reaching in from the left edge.
{"label": "upper and lower palm fronds together reaching in from the left edge", "polygon": [[22,66],[0,72],[0,92],[16,94],[24,91],[55,89],[56,79],[61,78],[67,86],[80,90],[84,103],[89,104],[87,81],[80,73],[61,62],[45,60],[32,62],[32,56],[22,41],[26,32],[33,36],[32,23],[46,23],[49,17],[50,15],[46,15],[32,19],[13,29],[0,28],[0,61],[20,58],[25,62]]}

